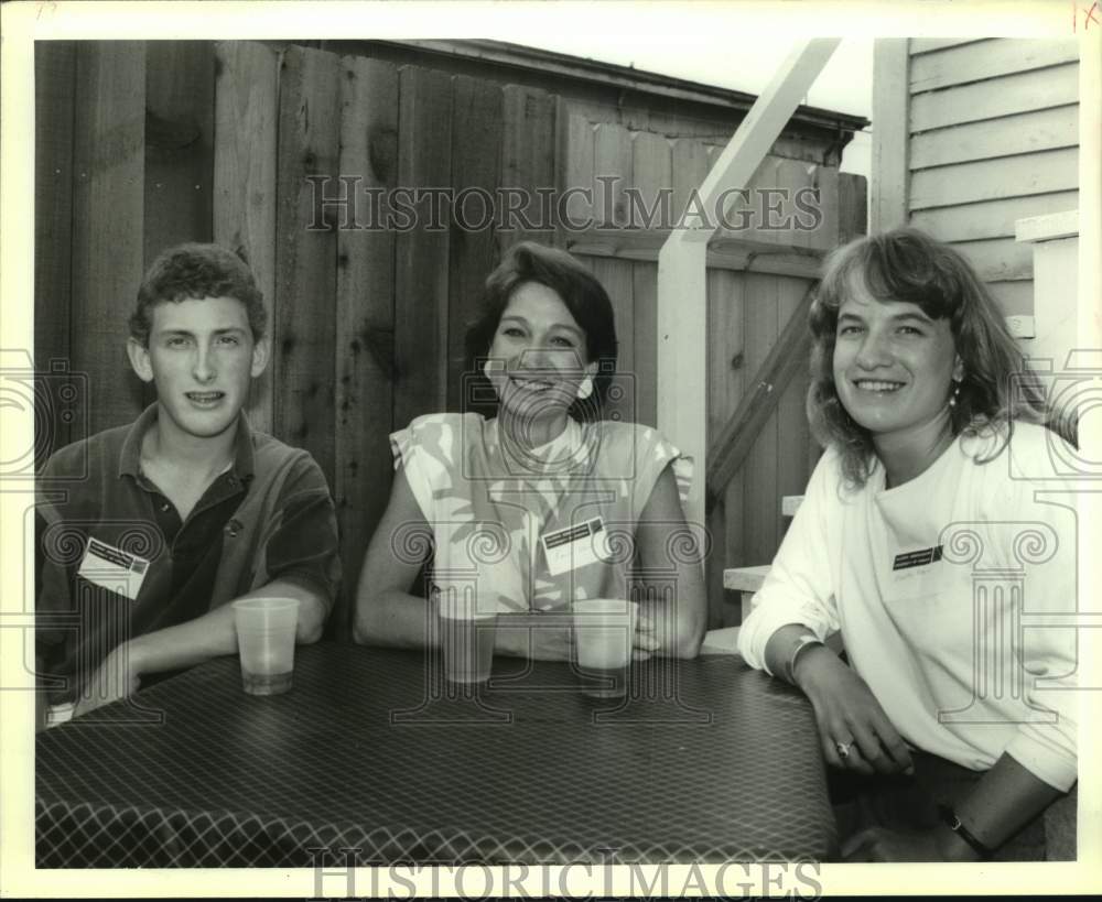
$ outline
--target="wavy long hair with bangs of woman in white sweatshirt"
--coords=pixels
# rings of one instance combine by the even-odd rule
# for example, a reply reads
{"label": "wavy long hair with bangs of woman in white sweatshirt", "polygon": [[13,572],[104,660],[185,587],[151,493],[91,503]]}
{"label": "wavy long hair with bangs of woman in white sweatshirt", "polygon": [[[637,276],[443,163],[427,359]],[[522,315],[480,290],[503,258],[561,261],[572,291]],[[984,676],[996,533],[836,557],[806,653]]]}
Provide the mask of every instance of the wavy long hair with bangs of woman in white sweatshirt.
{"label": "wavy long hair with bangs of woman in white sweatshirt", "polygon": [[863,486],[874,459],[872,434],[850,416],[834,384],[838,312],[858,279],[877,300],[906,301],[931,319],[949,320],[964,365],[957,403],[950,407],[952,433],[1003,435],[979,463],[1002,452],[1016,420],[1048,426],[1076,444],[1074,420],[1054,414],[1040,379],[1025,363],[1002,311],[972,265],[919,229],[893,229],[832,251],[811,305],[808,420],[819,442],[841,453],[847,483]]}

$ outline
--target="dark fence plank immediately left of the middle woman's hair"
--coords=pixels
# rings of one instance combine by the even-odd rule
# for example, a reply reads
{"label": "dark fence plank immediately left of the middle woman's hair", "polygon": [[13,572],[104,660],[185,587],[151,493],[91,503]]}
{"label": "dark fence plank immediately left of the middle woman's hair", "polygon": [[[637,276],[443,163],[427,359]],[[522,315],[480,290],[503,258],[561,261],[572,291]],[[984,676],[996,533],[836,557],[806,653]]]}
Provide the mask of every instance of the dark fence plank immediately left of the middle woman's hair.
{"label": "dark fence plank immediately left of the middle woman's hair", "polygon": [[456,206],[447,254],[447,409],[466,411],[476,406],[472,406],[474,374],[466,372],[464,339],[467,326],[478,316],[483,286],[497,256],[494,202],[479,198],[479,194],[493,197],[498,185],[503,95],[497,85],[463,75],[456,76],[453,90],[452,184]]}

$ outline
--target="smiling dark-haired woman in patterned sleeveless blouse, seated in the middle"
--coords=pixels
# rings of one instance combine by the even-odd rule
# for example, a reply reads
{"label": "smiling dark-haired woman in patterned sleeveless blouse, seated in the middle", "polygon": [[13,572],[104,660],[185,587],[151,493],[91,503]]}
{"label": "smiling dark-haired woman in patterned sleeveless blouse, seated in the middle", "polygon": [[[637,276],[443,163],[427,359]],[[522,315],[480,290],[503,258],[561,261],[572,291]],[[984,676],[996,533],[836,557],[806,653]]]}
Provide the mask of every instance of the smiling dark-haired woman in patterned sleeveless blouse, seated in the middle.
{"label": "smiling dark-haired woman in patterned sleeveless blouse, seated in the middle", "polygon": [[[616,367],[601,283],[564,251],[514,246],[467,352],[466,402],[485,378],[497,415],[419,416],[391,436],[397,472],[360,575],[356,640],[437,644],[432,598],[473,586],[479,608],[505,615],[498,653],[566,659],[573,600],[641,593],[636,656],[695,655],[705,601],[681,508],[690,461],[648,426],[598,419]],[[570,553],[552,554],[563,543]],[[410,588],[430,547],[426,600]],[[635,579],[636,563],[663,585]]]}

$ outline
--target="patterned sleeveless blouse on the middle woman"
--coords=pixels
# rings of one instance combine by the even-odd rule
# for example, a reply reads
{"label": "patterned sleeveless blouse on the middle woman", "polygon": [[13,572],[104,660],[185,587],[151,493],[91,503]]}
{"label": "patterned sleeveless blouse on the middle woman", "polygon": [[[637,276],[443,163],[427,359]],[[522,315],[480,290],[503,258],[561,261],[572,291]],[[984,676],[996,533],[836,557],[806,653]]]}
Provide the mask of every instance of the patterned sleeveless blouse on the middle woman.
{"label": "patterned sleeveless blouse on the middle woman", "polygon": [[[390,443],[432,530],[433,591],[473,591],[479,608],[500,613],[627,598],[636,525],[658,478],[672,467],[682,503],[692,478],[689,458],[633,423],[570,420],[547,445],[523,448],[497,420],[432,414]],[[552,565],[541,537],[572,566]],[[420,562],[426,539],[423,525],[410,524],[391,544]]]}

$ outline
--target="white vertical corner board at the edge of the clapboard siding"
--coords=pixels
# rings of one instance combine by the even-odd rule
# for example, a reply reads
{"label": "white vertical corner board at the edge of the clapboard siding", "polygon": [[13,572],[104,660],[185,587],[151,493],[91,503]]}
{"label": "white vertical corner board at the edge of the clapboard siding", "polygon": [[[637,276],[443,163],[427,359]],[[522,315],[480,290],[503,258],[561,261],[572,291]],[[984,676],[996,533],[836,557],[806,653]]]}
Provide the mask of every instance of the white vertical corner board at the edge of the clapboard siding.
{"label": "white vertical corner board at the edge of the clapboard siding", "polygon": [[908,128],[910,57],[907,37],[880,37],[873,45],[873,185],[869,226],[873,231],[908,220],[910,145]]}

